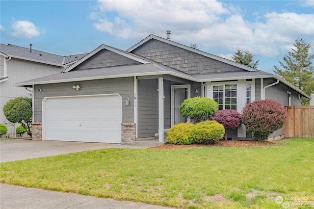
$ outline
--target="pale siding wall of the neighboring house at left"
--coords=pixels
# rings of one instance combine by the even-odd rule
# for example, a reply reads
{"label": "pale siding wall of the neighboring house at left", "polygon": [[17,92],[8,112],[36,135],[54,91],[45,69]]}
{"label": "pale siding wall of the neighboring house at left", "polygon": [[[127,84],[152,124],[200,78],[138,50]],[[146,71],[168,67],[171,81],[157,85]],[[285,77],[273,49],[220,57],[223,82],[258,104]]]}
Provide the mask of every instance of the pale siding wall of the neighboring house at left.
{"label": "pale siding wall of the neighboring house at left", "polygon": [[[5,117],[3,114],[4,104],[6,104],[11,99],[16,97],[25,97],[27,93],[30,93],[25,89],[25,87],[17,87],[13,86],[12,84],[57,74],[63,70],[63,67],[30,62],[16,58],[11,58],[9,61],[7,61],[6,68],[6,76],[8,79],[0,82],[0,123],[5,122]],[[8,127],[8,130],[10,133],[15,133],[15,127]]]}

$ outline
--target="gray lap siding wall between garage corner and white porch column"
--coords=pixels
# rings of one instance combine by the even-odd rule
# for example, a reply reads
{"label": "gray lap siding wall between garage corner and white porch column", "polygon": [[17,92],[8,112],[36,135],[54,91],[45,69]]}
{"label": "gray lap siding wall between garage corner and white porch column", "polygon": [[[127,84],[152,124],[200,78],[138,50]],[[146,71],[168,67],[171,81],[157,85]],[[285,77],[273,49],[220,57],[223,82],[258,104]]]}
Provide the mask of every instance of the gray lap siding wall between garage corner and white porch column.
{"label": "gray lap siding wall between garage corner and white porch column", "polygon": [[153,137],[158,132],[158,79],[138,80],[137,137]]}

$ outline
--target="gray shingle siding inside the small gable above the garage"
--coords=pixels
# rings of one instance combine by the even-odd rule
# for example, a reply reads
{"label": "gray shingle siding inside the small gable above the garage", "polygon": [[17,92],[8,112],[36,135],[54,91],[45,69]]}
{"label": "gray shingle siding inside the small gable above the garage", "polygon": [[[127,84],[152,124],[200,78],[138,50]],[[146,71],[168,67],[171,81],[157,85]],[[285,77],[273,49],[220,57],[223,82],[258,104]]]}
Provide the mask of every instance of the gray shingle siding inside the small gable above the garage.
{"label": "gray shingle siding inside the small gable above the garage", "polygon": [[120,54],[102,50],[92,57],[78,65],[74,68],[74,70],[82,70],[82,69],[92,69],[92,68],[100,68],[100,67],[112,67],[119,65],[131,65],[131,64],[139,64],[139,62],[132,60],[128,57],[122,56]]}

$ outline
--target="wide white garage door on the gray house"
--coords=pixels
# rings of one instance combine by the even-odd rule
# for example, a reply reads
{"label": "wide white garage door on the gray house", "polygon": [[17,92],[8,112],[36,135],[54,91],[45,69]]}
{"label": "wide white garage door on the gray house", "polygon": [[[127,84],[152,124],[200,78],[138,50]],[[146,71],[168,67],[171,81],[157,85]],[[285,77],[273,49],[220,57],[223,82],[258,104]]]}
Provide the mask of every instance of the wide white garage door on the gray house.
{"label": "wide white garage door on the gray house", "polygon": [[121,143],[121,123],[118,94],[43,101],[43,140]]}

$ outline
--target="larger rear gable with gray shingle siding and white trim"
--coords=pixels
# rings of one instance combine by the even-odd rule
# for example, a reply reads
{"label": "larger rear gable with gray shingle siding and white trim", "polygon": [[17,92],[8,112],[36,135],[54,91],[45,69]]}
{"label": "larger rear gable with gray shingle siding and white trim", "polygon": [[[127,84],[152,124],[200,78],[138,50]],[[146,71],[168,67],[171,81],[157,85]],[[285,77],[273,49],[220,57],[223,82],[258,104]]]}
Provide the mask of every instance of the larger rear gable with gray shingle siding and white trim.
{"label": "larger rear gable with gray shingle siding and white trim", "polygon": [[127,52],[140,54],[164,65],[171,64],[173,68],[189,74],[259,71],[153,34],[132,46]]}

